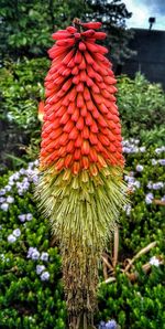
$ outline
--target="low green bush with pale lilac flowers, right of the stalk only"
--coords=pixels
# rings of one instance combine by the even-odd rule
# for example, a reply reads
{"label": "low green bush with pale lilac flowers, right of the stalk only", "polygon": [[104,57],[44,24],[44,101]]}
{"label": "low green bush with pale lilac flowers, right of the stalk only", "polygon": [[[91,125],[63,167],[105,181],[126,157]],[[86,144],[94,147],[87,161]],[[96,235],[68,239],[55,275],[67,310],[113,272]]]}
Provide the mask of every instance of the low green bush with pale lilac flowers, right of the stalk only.
{"label": "low green bush with pale lilac flowers, right of the stalk only", "polygon": [[[99,290],[98,320],[116,319],[122,329],[163,329],[164,267],[154,261],[163,259],[165,252],[165,206],[155,204],[154,200],[162,200],[165,204],[165,147],[146,149],[140,147],[138,140],[132,140],[124,142],[124,152],[129,172],[125,180],[132,191],[131,205],[120,219],[117,280],[102,284]],[[154,241],[157,242],[156,246],[134,263],[130,274],[135,273],[138,279],[132,283],[122,273],[125,259],[131,259]],[[148,262],[155,266],[146,274],[142,266]]]}

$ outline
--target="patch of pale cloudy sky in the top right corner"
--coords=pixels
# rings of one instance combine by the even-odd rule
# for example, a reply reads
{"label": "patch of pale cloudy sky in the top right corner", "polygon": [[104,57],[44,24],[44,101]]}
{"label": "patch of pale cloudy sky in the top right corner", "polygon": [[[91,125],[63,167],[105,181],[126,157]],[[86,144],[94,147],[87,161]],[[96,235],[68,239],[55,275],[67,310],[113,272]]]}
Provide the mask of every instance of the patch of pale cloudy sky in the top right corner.
{"label": "patch of pale cloudy sky in the top right corner", "polygon": [[148,18],[154,17],[156,22],[152,30],[165,30],[165,0],[123,0],[127,9],[132,12],[127,20],[128,28],[148,29]]}

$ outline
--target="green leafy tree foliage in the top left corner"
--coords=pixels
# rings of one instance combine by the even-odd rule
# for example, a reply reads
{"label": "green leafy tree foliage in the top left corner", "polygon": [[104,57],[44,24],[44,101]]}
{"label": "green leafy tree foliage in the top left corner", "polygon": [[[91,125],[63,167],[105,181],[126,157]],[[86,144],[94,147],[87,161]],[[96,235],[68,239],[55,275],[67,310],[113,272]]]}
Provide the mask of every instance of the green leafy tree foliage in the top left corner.
{"label": "green leafy tree foliage in the top left corner", "polygon": [[82,0],[2,0],[1,52],[13,59],[26,55],[43,56],[52,45],[51,34],[55,29],[64,28],[82,14],[86,6]]}

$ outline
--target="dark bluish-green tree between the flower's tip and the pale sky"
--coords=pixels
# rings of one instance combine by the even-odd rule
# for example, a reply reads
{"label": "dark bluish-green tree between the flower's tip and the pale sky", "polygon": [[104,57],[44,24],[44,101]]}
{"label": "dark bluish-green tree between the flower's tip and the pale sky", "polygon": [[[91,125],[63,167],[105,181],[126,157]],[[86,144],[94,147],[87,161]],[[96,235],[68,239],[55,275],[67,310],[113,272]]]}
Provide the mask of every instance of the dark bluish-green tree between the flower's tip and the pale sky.
{"label": "dark bluish-green tree between the flower's tip and the pale sky", "polygon": [[90,10],[87,19],[102,22],[108,34],[107,46],[110,49],[111,60],[116,64],[122,64],[133,54],[128,46],[133,32],[127,30],[125,24],[125,20],[130,19],[132,13],[121,0],[87,0],[86,2]]}

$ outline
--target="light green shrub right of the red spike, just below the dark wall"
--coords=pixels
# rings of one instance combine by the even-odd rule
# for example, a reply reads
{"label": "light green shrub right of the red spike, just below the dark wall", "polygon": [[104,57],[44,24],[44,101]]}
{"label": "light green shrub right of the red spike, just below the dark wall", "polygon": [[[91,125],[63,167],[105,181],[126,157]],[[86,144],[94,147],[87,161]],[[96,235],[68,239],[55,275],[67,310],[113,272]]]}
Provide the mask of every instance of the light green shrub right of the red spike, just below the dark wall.
{"label": "light green shrub right of the red spike, just below the dark wall", "polygon": [[165,94],[138,73],[134,79],[119,77],[118,106],[123,136],[140,137],[146,145],[165,142]]}

